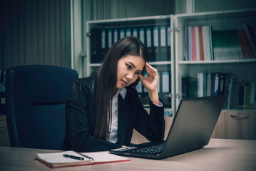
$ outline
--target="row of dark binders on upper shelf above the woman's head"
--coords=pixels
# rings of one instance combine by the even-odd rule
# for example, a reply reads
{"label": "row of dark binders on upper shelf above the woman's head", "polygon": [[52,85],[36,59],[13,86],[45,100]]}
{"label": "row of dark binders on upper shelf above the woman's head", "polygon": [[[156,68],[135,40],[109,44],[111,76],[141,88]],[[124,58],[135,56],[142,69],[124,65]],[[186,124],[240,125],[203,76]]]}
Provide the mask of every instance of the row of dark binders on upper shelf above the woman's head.
{"label": "row of dark binders on upper shelf above the woman's head", "polygon": [[135,36],[148,47],[149,61],[170,61],[170,26],[91,28],[91,63],[101,63],[118,39]]}

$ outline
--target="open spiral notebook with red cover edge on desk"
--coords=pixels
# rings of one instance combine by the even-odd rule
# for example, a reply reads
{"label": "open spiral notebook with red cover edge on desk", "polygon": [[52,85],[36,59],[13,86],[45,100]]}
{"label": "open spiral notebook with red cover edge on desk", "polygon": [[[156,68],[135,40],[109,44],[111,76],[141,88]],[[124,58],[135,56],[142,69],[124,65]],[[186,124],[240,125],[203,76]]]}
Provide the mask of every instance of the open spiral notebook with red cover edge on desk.
{"label": "open spiral notebook with red cover edge on desk", "polygon": [[[83,158],[83,160],[76,160],[68,157],[63,157],[63,155],[72,155],[76,157],[81,157]],[[110,154],[109,152],[79,153],[74,151],[37,153],[35,156],[35,159],[39,160],[39,162],[42,162],[44,165],[50,168],[130,161],[125,157],[113,155],[113,154]]]}

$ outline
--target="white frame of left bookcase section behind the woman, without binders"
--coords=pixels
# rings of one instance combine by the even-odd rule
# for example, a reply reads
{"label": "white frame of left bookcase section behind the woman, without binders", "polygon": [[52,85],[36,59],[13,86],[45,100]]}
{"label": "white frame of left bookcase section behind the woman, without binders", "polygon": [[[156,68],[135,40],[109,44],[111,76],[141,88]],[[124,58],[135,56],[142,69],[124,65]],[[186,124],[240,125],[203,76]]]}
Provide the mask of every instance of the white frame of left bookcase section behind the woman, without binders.
{"label": "white frame of left bookcase section behind the woman, without binders", "polygon": [[[148,26],[168,26],[170,34],[166,38],[170,38],[170,60],[168,61],[160,61],[157,58],[155,61],[149,61],[150,65],[157,68],[158,71],[168,71],[170,73],[169,85],[170,92],[162,98],[166,98],[168,100],[168,108],[165,108],[165,115],[171,116],[175,113],[175,58],[174,58],[174,46],[173,46],[173,29],[174,29],[174,16],[147,16],[147,17],[135,17],[135,18],[126,18],[126,19],[109,19],[109,20],[98,20],[98,21],[87,21],[87,74],[90,76],[101,63],[91,62],[91,29],[92,28],[100,28],[100,29],[121,29],[121,28],[146,28]],[[108,32],[106,32],[108,33]],[[133,36],[133,33],[131,33]],[[145,33],[146,36],[146,33]],[[153,36],[153,35],[152,35]],[[118,37],[119,39],[120,37]],[[114,43],[114,41],[113,41]],[[146,42],[144,41],[147,46]],[[153,44],[153,42],[152,42]],[[159,43],[160,44],[160,43]],[[161,81],[161,80],[160,80]],[[158,87],[159,88],[159,87]],[[159,90],[160,91],[160,90]],[[143,105],[145,108],[148,108],[148,105],[145,103],[145,97],[141,97],[143,101]],[[146,101],[149,102],[148,99]]]}

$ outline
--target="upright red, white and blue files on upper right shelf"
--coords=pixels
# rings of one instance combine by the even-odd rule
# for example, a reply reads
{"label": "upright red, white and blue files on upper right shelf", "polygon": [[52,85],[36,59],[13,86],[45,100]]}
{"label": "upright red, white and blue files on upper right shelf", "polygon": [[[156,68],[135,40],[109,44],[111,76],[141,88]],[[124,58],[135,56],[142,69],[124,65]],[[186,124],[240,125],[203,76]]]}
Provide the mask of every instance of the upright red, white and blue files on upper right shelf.
{"label": "upright red, white and blue files on upper right shelf", "polygon": [[184,61],[213,60],[211,26],[185,26],[183,49]]}

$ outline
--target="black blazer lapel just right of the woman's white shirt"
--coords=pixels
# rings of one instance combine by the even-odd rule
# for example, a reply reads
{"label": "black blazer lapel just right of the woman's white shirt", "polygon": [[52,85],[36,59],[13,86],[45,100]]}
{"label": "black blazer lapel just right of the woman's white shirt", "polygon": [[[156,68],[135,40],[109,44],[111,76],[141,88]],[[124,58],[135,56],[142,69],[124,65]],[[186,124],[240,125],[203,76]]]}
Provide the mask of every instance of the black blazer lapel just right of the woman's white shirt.
{"label": "black blazer lapel just right of the woman's white shirt", "polygon": [[129,106],[122,96],[118,95],[118,144],[123,144],[126,138]]}

